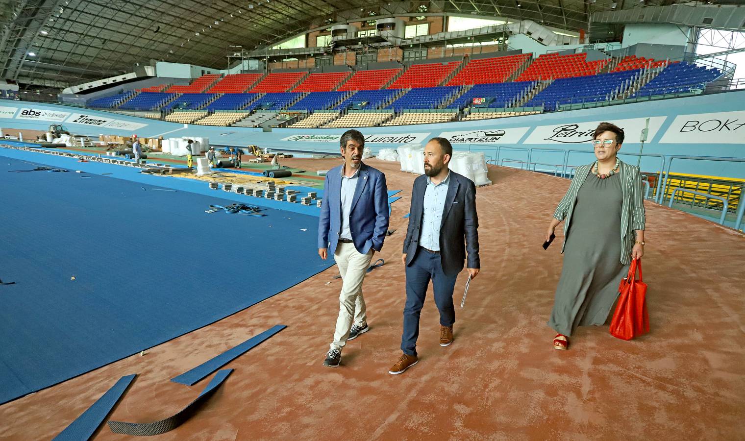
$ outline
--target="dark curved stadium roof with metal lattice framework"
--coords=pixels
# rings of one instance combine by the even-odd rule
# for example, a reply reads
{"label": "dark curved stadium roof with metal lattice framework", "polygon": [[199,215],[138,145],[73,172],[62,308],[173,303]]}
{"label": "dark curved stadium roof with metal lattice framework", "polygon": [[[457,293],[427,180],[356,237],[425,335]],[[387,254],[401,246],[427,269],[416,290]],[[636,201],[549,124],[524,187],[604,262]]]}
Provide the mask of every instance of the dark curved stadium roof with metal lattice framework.
{"label": "dark curved stadium roof with metal lattice framework", "polygon": [[[592,12],[676,0],[0,0],[0,78],[63,87],[132,72],[151,60],[226,68],[250,50],[313,28],[406,13],[475,14],[587,28]],[[197,35],[198,34],[198,35]]]}

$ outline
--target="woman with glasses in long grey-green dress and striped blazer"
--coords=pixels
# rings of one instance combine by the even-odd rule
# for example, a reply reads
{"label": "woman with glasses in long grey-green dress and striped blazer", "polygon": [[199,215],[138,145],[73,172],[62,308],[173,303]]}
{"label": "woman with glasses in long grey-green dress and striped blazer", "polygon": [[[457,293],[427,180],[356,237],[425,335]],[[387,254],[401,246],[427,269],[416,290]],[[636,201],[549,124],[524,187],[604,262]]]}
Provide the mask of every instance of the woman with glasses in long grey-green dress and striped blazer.
{"label": "woman with glasses in long grey-green dress and striped blazer", "polygon": [[618,283],[644,254],[644,197],[639,168],[618,159],[624,130],[600,123],[592,136],[597,161],[577,168],[554,212],[546,240],[564,224],[564,265],[548,326],[555,349],[567,349],[577,326],[606,322]]}

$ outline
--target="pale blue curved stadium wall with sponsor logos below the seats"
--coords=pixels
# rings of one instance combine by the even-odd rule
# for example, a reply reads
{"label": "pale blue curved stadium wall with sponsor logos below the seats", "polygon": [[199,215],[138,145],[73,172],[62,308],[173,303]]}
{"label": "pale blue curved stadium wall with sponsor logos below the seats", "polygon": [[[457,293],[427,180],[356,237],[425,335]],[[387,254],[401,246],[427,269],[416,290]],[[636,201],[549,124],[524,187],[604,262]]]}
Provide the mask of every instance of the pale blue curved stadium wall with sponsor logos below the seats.
{"label": "pale blue curved stadium wall with sponsor logos below the seats", "polygon": [[[369,136],[367,142],[373,151],[383,147],[420,145],[431,137],[445,136],[460,150],[481,150],[486,156],[495,158],[497,147],[501,147],[501,159],[527,161],[530,154],[530,162],[545,164],[562,164],[567,150],[580,150],[567,153],[568,164],[574,166],[593,160],[589,140],[598,122],[612,121],[624,127],[627,135],[621,153],[638,153],[641,130],[646,118],[650,118],[644,153],[745,157],[744,102],[745,91],[738,91],[513,118],[364,127],[360,130]],[[76,123],[81,115],[99,121]],[[264,132],[261,128],[250,127],[175,124],[59,104],[0,101],[0,127],[4,133],[13,134],[19,129],[46,130],[49,124],[63,124],[71,133],[79,135],[206,136],[215,145],[259,145],[309,153],[337,153],[338,138],[346,130],[274,129]],[[635,163],[635,159],[624,159]],[[659,171],[660,162],[658,157],[645,157],[641,168],[643,171]],[[673,170],[677,173],[745,179],[742,163],[676,160],[674,164]],[[537,169],[554,171],[548,165],[538,165]]]}

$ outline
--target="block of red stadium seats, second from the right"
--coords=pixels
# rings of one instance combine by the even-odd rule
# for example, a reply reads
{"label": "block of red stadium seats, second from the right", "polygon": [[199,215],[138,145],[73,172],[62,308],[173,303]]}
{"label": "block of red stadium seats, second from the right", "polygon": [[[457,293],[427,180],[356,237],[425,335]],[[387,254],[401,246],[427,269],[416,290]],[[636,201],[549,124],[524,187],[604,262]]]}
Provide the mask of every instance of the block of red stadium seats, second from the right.
{"label": "block of red stadium seats, second from the right", "polygon": [[559,55],[556,52],[536,58],[516,81],[551,80],[554,78],[586,77],[597,74],[610,58],[586,61],[587,53]]}

